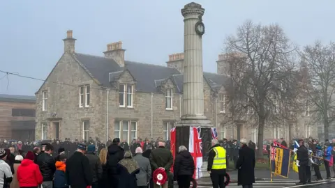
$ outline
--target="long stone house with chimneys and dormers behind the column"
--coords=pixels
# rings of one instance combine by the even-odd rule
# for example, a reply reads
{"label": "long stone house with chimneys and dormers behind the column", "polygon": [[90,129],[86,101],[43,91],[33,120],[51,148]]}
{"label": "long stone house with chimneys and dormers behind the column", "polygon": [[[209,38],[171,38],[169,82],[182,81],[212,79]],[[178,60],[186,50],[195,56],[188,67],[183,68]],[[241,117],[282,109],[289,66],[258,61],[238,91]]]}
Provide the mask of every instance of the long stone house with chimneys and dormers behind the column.
{"label": "long stone house with chimneys and dormers behind the column", "polygon": [[[122,42],[107,45],[105,56],[92,56],[75,52],[75,40],[68,31],[64,54],[36,92],[36,138],[168,139],[183,110],[184,54],[170,55],[167,66],[151,65],[125,61]],[[255,140],[246,121],[234,130],[226,123],[228,80],[204,72],[204,114],[219,137]],[[266,137],[288,139],[282,132],[269,128]]]}

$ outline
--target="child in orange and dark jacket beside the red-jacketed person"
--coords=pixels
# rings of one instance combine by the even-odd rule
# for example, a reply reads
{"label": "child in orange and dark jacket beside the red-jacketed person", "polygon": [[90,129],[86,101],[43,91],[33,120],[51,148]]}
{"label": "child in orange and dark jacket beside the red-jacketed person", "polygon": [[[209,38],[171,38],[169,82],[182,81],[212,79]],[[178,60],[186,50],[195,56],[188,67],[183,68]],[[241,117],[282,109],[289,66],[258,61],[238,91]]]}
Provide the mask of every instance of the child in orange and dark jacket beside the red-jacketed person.
{"label": "child in orange and dark jacket beside the red-jacketed person", "polygon": [[65,176],[66,155],[59,155],[59,161],[56,162],[56,172],[54,173],[54,188],[68,188],[68,182]]}

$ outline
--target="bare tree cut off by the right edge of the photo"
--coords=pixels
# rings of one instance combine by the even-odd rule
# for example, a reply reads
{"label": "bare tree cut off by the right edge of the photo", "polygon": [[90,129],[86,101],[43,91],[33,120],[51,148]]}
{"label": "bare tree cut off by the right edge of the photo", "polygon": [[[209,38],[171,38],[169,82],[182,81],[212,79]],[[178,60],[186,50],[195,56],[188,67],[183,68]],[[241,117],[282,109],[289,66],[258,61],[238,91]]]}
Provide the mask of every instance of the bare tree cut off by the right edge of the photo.
{"label": "bare tree cut off by the right edge of the photo", "polygon": [[[335,43],[322,45],[320,41],[304,47],[301,60],[306,79],[304,91],[313,119],[323,123],[325,139],[329,139],[329,125],[335,120]],[[309,110],[309,109],[308,109]]]}

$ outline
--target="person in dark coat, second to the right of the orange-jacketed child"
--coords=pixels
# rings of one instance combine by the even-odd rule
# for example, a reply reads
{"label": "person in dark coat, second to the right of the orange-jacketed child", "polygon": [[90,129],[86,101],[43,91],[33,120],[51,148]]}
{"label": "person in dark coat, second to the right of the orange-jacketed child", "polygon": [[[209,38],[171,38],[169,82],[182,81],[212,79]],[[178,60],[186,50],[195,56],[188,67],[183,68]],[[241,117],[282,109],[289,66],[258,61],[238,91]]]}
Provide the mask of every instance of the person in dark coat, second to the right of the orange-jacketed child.
{"label": "person in dark coat, second to the right of the orange-jacketed child", "polygon": [[103,168],[101,166],[100,159],[95,154],[95,152],[96,146],[94,146],[93,144],[87,146],[86,157],[89,159],[89,166],[91,166],[91,171],[93,173],[92,188],[98,187],[98,180],[103,177]]}

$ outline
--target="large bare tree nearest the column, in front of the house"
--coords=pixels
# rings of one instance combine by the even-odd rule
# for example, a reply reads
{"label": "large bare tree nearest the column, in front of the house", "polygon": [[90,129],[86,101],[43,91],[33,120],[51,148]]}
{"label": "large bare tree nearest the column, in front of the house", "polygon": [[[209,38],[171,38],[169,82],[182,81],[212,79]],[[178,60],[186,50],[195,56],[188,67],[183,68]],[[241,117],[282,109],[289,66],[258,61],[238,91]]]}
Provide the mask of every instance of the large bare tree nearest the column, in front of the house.
{"label": "large bare tree nearest the column, in front of the house", "polygon": [[[225,40],[235,120],[236,113],[248,113],[247,121],[253,117],[258,124],[258,148],[262,148],[265,125],[284,117],[280,109],[295,102],[296,93],[291,93],[296,84],[294,52],[295,47],[276,24],[262,26],[247,21],[239,26],[236,35]],[[258,156],[262,156],[262,149]]]}

